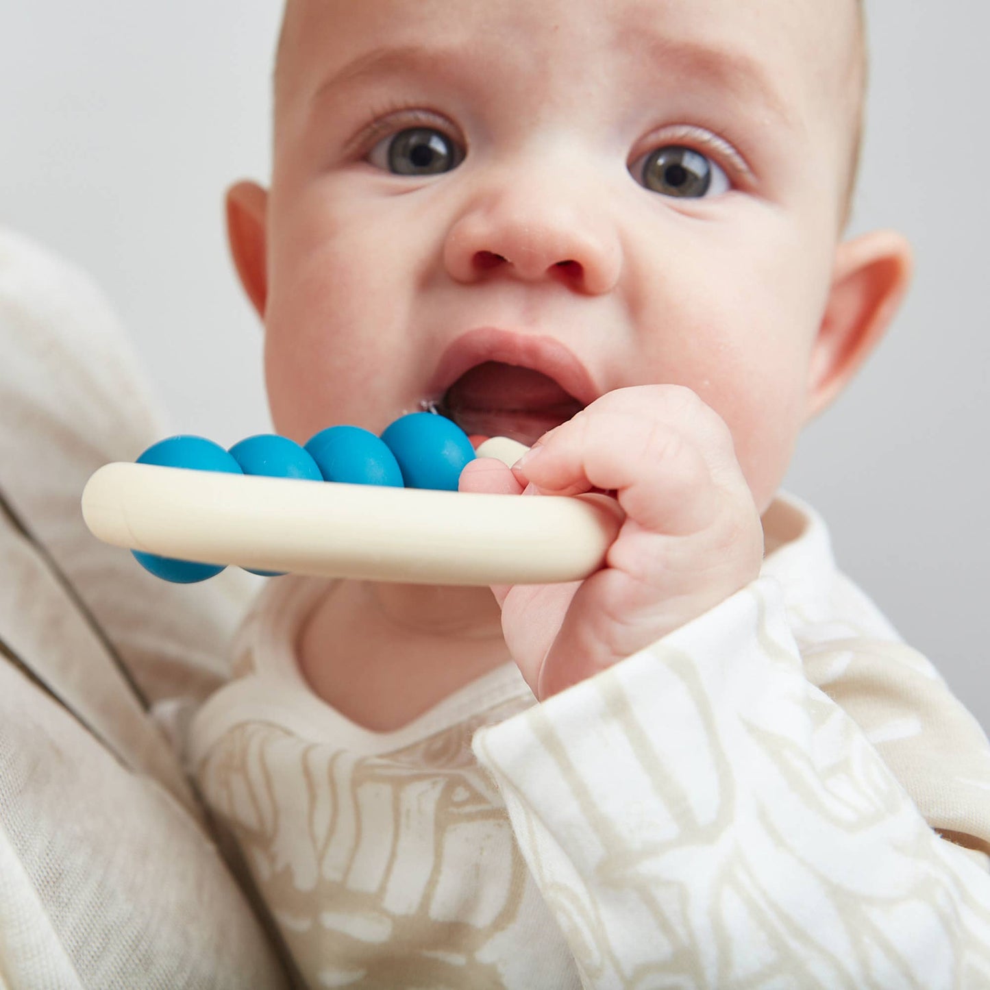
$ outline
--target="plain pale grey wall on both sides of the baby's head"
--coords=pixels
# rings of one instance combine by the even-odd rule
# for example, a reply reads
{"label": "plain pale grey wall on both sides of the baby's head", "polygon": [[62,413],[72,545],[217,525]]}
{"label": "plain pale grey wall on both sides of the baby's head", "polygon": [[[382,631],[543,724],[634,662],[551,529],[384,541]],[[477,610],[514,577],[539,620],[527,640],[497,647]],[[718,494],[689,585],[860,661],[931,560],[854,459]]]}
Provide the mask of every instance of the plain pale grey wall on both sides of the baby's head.
{"label": "plain pale grey wall on both sides of the baby's head", "polygon": [[[0,0],[0,223],[88,269],[176,432],[225,446],[270,429],[222,197],[268,174],[278,8]],[[875,0],[868,12],[850,233],[900,228],[918,273],[786,486],[824,513],[844,569],[990,727],[990,7]]]}

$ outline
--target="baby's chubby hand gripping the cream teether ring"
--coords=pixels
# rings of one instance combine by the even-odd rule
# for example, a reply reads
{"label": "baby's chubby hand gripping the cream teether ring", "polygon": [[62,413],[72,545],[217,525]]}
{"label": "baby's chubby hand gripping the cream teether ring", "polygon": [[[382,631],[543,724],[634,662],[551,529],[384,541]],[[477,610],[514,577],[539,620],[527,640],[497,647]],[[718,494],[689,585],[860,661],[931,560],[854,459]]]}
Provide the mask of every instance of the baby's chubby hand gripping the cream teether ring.
{"label": "baby's chubby hand gripping the cream teether ring", "polygon": [[461,491],[538,497],[595,488],[614,490],[626,513],[600,570],[569,584],[492,587],[506,644],[540,700],[718,605],[762,562],[732,435],[677,385],[609,392],[512,469],[481,458],[460,478]]}

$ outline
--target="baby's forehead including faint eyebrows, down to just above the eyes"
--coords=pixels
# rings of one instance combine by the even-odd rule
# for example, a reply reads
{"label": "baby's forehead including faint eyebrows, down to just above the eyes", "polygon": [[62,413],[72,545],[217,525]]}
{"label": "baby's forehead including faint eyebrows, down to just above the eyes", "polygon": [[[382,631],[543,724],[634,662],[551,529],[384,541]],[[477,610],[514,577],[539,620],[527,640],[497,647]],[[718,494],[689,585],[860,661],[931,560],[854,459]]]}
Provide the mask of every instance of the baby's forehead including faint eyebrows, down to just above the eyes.
{"label": "baby's forehead including faint eyebrows, down to just above the eyes", "polygon": [[851,187],[858,9],[858,0],[288,0],[276,156],[286,128],[305,131],[327,94],[341,106],[375,80],[395,89],[432,77],[494,95],[531,125],[559,110],[561,93],[576,113],[611,98],[617,115],[675,97],[730,131],[793,142],[793,154],[848,173]]}

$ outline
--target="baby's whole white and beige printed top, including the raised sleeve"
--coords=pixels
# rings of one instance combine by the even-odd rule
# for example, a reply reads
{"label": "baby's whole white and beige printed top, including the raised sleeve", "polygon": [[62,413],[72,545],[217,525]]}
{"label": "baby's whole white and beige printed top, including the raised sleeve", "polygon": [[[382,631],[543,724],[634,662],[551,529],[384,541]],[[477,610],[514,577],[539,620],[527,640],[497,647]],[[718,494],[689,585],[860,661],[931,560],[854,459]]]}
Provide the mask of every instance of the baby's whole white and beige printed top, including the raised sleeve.
{"label": "baby's whole white and beige printed top, including the raised sleeve", "polygon": [[299,673],[333,582],[266,589],[189,761],[310,986],[990,986],[986,739],[809,507],[766,524],[758,581],[612,670],[387,734]]}

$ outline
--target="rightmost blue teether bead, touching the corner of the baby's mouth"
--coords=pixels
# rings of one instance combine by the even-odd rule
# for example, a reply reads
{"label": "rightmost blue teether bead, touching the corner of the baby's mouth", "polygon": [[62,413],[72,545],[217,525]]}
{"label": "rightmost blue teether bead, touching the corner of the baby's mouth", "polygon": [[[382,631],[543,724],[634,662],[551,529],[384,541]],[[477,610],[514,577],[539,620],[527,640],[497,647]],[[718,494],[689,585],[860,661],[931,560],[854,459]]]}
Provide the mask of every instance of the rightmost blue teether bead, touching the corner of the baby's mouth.
{"label": "rightmost blue teether bead, touching the corner of the baby's mouth", "polygon": [[407,488],[455,492],[464,465],[474,459],[467,434],[436,413],[403,416],[381,439],[395,454]]}

